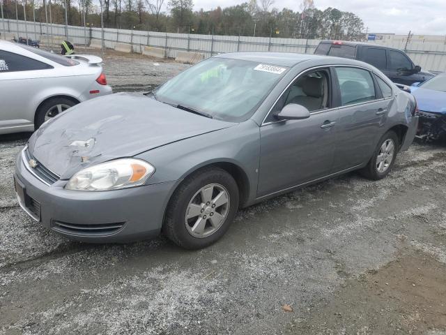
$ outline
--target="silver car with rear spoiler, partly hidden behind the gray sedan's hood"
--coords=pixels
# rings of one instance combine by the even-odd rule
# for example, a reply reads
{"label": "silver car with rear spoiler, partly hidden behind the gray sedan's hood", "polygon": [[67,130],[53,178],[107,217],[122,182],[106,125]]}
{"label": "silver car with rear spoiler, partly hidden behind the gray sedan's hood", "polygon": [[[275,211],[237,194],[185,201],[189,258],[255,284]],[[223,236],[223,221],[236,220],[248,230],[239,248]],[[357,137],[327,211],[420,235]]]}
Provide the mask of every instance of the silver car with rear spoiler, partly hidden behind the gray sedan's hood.
{"label": "silver car with rear spoiler, partly hidden behind the gray sedan's hood", "polygon": [[101,63],[0,40],[0,134],[34,131],[77,103],[111,94]]}

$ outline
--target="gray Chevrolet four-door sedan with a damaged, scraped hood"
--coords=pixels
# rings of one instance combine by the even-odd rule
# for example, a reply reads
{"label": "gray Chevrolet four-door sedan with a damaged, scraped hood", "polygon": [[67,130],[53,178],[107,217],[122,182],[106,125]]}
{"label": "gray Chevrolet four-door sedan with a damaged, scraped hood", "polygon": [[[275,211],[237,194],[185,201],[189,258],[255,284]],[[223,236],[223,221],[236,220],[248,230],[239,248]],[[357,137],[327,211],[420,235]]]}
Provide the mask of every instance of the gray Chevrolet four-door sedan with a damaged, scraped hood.
{"label": "gray Chevrolet four-door sedan with a damaged, scraped hood", "polygon": [[360,61],[222,54],[150,94],[96,98],[47,121],[17,157],[17,198],[72,239],[162,230],[202,248],[239,208],[352,170],[382,179],[413,141],[416,108]]}

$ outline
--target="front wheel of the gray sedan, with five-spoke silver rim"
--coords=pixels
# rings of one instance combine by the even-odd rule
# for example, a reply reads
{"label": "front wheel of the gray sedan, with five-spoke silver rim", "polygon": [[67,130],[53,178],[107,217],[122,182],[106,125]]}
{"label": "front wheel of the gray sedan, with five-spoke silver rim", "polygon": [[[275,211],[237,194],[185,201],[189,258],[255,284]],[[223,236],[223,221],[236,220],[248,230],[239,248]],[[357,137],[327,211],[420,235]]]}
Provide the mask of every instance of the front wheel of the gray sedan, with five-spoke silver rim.
{"label": "front wheel of the gray sedan, with five-spoke silver rim", "polygon": [[206,168],[187,177],[167,206],[164,234],[187,249],[213,244],[238,211],[238,186],[231,174]]}

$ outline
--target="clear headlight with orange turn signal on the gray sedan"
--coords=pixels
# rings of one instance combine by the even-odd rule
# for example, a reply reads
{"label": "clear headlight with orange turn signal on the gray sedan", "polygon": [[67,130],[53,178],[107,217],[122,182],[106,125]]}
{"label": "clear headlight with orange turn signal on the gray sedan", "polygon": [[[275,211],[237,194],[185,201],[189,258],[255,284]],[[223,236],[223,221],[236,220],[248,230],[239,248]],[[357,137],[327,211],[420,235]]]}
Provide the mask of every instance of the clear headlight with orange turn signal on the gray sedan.
{"label": "clear headlight with orange turn signal on the gray sedan", "polygon": [[153,172],[155,168],[140,159],[117,159],[77,172],[65,188],[72,191],[109,191],[139,186],[144,184]]}

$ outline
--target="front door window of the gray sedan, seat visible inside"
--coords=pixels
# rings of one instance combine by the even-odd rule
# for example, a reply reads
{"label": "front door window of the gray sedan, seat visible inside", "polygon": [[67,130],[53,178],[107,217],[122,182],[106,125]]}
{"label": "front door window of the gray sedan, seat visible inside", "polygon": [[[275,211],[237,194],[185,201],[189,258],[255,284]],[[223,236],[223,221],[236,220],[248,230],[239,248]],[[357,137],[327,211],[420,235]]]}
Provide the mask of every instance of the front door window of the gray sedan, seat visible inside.
{"label": "front door window of the gray sedan, seat visible inside", "polygon": [[279,98],[266,122],[275,121],[274,115],[289,103],[302,105],[310,113],[330,107],[329,82],[327,70],[313,71],[298,77]]}

